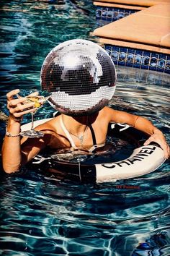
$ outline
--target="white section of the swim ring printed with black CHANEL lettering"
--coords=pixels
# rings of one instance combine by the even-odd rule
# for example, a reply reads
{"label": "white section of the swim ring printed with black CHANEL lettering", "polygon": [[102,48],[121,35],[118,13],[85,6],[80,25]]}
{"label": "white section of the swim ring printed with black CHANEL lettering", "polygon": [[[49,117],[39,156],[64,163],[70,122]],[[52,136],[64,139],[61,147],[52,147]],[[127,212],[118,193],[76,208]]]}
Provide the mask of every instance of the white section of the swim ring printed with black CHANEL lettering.
{"label": "white section of the swim ring printed with black CHANEL lettering", "polygon": [[155,171],[164,163],[164,151],[154,145],[136,148],[129,158],[114,163],[96,164],[97,182],[129,179]]}

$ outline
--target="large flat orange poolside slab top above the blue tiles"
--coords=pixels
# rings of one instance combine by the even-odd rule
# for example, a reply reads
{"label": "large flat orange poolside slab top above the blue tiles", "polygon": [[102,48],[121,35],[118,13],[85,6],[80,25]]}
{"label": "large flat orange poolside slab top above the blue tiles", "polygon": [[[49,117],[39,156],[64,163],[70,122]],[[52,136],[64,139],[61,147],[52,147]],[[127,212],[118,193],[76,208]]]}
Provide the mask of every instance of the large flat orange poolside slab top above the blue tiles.
{"label": "large flat orange poolside slab top above the blue tiles", "polygon": [[170,47],[170,4],[159,4],[94,30],[101,38]]}

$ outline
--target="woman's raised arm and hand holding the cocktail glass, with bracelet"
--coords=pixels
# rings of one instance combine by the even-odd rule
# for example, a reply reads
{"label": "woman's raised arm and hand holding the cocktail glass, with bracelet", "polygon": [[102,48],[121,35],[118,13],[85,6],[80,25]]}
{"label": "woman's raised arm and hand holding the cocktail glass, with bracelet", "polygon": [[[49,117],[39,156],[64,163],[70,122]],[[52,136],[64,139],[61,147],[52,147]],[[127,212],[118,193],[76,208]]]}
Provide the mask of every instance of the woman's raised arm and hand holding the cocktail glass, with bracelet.
{"label": "woman's raised arm and hand holding the cocktail glass, with bracelet", "polygon": [[6,173],[19,171],[22,164],[21,137],[19,135],[22,116],[35,111],[34,103],[24,104],[24,98],[14,98],[19,90],[12,90],[6,94],[9,121],[2,146],[2,163]]}

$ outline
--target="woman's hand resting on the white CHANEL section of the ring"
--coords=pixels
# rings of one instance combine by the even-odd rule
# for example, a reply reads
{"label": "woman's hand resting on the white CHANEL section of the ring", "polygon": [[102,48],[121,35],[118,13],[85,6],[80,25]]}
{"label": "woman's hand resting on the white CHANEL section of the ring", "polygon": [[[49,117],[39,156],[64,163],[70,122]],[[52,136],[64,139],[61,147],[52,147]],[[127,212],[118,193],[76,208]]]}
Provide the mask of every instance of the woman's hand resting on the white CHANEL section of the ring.
{"label": "woman's hand resting on the white CHANEL section of the ring", "polygon": [[169,145],[167,144],[166,139],[160,130],[156,129],[155,132],[153,131],[153,135],[151,135],[151,137],[149,137],[148,140],[146,140],[144,145],[149,145],[149,143],[151,142],[157,142],[158,145],[160,145],[161,148],[164,150],[165,158],[169,158],[170,156]]}

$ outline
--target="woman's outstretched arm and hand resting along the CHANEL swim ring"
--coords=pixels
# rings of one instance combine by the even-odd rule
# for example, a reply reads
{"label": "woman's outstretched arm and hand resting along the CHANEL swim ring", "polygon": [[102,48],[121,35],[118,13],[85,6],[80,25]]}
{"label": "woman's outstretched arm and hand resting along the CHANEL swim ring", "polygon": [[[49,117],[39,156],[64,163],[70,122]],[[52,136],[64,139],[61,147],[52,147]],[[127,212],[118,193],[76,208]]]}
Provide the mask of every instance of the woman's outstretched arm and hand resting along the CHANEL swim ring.
{"label": "woman's outstretched arm and hand resting along the CHANEL swim ring", "polygon": [[129,114],[123,111],[116,111],[112,108],[107,108],[107,111],[109,113],[109,121],[129,124],[130,126],[135,127],[136,129],[150,135],[144,145],[148,145],[152,141],[157,142],[158,145],[160,145],[161,148],[164,150],[165,157],[169,158],[169,145],[167,144],[163,133],[158,128],[154,127],[151,121],[142,116],[135,116],[133,114]]}

